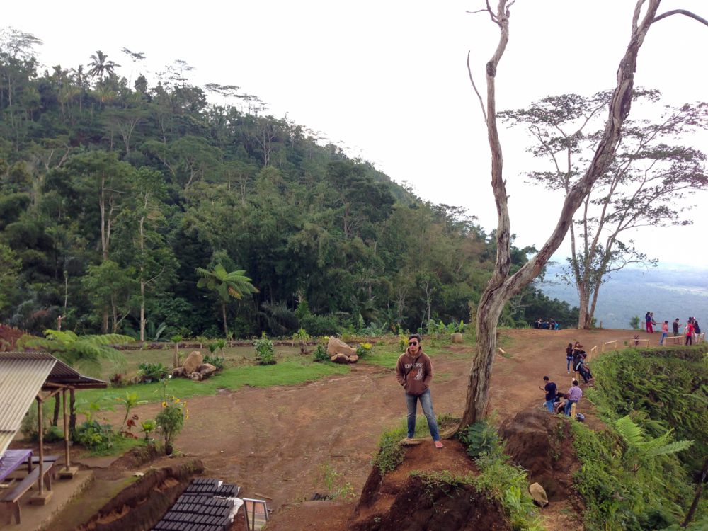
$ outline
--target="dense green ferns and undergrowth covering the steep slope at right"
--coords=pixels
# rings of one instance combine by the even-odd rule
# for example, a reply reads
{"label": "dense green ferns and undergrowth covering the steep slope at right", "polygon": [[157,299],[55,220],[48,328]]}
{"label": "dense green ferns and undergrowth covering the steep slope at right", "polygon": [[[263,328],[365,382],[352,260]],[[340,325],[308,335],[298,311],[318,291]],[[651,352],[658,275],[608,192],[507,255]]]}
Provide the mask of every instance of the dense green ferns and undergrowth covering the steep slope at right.
{"label": "dense green ferns and undergrowth covering the steep slope at right", "polygon": [[[575,484],[588,530],[663,529],[685,517],[695,474],[708,457],[708,364],[701,350],[624,350],[593,362],[596,384],[588,397],[607,430],[573,423],[582,464]],[[680,440],[693,441],[690,451]],[[707,509],[703,501],[695,520]]]}

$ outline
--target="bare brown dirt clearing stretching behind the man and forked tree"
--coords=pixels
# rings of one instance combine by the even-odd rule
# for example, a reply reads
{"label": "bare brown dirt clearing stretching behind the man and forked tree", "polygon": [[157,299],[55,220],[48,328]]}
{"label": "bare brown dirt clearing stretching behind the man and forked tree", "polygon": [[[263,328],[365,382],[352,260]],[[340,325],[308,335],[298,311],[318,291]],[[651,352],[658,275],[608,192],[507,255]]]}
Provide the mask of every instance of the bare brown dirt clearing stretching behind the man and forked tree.
{"label": "bare brown dirt clearing stretching behind the man and forked tree", "polygon": [[[506,355],[496,356],[491,383],[491,407],[498,421],[542,403],[538,386],[543,375],[561,390],[570,386],[565,360],[569,342],[581,341],[589,350],[630,336],[622,330],[504,331],[501,345]],[[469,347],[450,346],[433,356],[436,413],[462,414],[472,354]],[[176,447],[202,459],[205,475],[239,484],[241,496],[269,498],[275,511],[321,492],[316,477],[322,467],[341,472],[358,495],[379,436],[405,415],[393,368],[367,365],[354,366],[348,375],[292,387],[244,387],[196,397],[188,408],[190,417]],[[158,410],[158,404],[150,404],[137,413],[154,418]]]}

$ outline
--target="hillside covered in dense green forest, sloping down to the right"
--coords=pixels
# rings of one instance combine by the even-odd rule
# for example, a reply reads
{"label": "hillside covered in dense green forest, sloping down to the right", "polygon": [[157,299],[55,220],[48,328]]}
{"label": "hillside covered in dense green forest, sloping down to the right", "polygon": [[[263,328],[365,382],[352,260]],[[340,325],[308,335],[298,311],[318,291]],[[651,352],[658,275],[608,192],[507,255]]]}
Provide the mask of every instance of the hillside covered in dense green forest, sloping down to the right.
{"label": "hillside covered in dense green forest, sloping down to the right", "polygon": [[[130,83],[100,51],[43,69],[38,45],[16,30],[0,42],[0,322],[151,339],[162,324],[282,336],[469,321],[495,250],[463,209],[235,86],[176,67]],[[257,291],[229,284],[235,271]],[[573,326],[577,309],[529,289],[503,324],[537,317]]]}

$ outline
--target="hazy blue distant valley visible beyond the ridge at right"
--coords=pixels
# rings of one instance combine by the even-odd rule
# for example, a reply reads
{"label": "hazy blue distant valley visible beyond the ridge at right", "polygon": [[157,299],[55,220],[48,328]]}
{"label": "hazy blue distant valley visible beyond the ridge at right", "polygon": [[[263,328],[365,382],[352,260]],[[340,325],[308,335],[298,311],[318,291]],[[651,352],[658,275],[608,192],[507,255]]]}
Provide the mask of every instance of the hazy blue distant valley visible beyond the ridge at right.
{"label": "hazy blue distant valley visible beyond the ridge at right", "polygon": [[[561,267],[549,268],[543,282],[537,286],[551,298],[578,305],[574,286],[557,276]],[[708,269],[682,265],[659,264],[650,269],[625,269],[612,275],[600,288],[595,310],[597,325],[612,329],[628,329],[632,316],[639,316],[644,326],[644,314],[654,312],[654,320],[673,321],[678,317],[685,324],[695,316],[703,326],[708,324]],[[539,316],[552,317],[552,316]],[[563,326],[573,324],[563,323]]]}

